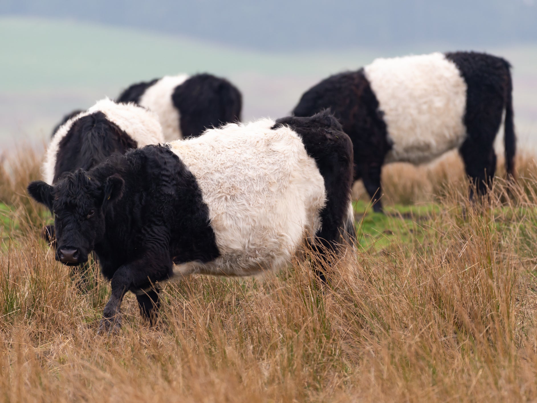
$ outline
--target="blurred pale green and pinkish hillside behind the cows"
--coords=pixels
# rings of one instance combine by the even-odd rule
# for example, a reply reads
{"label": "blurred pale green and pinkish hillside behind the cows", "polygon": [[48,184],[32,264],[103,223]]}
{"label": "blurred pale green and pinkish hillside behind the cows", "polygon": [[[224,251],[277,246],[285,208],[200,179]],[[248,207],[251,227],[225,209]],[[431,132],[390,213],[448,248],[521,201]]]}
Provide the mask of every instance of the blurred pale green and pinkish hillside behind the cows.
{"label": "blurred pale green and pinkish hillside behind the cows", "polygon": [[[0,148],[21,138],[46,138],[72,109],[89,107],[104,96],[113,98],[133,82],[165,74],[208,71],[226,76],[243,92],[245,120],[277,118],[329,74],[357,69],[379,56],[456,49],[429,44],[254,51],[179,35],[20,17],[0,17],[0,48]],[[473,49],[512,62],[519,136],[537,143],[537,45]]]}

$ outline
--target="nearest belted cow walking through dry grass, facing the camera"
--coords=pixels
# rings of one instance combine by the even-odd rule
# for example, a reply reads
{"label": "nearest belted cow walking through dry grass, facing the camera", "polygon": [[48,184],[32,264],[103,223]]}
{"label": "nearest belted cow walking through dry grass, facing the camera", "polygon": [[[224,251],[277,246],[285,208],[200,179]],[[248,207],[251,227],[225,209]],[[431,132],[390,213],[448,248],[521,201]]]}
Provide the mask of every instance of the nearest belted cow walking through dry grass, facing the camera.
{"label": "nearest belted cow walking through dry grass, facing the camera", "polygon": [[97,254],[112,286],[100,330],[110,331],[129,290],[154,323],[156,283],[174,271],[251,276],[286,267],[304,241],[341,253],[342,236],[355,236],[351,184],[351,140],[321,113],[114,154],[28,192],[55,211],[56,260]]}

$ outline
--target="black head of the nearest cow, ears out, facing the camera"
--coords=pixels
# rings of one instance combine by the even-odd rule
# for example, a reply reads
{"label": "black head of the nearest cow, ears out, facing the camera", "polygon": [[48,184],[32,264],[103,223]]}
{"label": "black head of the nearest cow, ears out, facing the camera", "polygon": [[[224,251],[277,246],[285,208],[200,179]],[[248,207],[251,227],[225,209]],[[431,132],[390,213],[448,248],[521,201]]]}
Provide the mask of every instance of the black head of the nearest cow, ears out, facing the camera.
{"label": "black head of the nearest cow, ears out, facing the camera", "polygon": [[28,193],[54,213],[56,260],[67,265],[88,261],[88,254],[105,234],[105,213],[123,194],[119,175],[99,182],[79,169],[51,186],[43,181],[28,185]]}

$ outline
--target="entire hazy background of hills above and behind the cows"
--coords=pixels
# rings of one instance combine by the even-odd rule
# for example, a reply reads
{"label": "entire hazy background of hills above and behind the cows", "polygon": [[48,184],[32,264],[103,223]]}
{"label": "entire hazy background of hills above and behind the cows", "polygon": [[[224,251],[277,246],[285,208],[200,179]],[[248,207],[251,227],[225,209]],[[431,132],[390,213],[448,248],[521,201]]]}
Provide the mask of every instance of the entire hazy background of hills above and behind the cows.
{"label": "entire hazy background of hills above and behind the cows", "polygon": [[277,118],[329,74],[454,50],[513,64],[519,138],[537,144],[534,0],[0,0],[0,148],[165,74],[226,76],[245,120]]}

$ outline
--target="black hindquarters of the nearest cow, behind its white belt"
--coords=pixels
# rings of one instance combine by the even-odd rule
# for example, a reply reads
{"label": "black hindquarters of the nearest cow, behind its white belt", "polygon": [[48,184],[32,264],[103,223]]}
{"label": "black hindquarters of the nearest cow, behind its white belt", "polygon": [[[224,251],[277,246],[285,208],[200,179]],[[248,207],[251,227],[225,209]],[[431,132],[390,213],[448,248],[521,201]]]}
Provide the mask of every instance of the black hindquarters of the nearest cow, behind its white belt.
{"label": "black hindquarters of the nearest cow, behind its white belt", "polygon": [[273,129],[284,125],[301,137],[306,152],[315,160],[324,178],[326,205],[321,211],[322,227],[315,237],[324,247],[334,250],[335,243],[342,242],[342,232],[348,226],[353,176],[351,139],[326,111],[310,118],[278,119]]}

